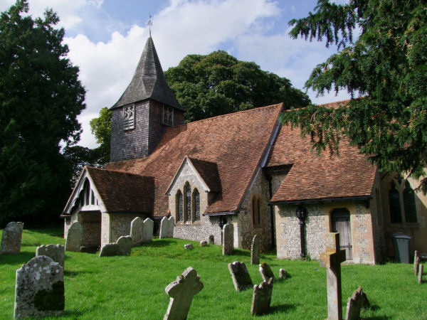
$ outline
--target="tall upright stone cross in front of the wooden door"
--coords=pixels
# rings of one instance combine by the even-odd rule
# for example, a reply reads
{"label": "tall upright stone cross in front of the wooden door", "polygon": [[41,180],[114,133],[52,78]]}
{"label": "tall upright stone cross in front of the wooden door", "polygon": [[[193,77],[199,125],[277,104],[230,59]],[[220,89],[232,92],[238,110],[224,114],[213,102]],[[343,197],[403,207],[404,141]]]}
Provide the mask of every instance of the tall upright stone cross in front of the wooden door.
{"label": "tall upright stone cross in front of the wooden door", "polygon": [[327,233],[326,252],[320,253],[320,267],[326,267],[327,319],[342,320],[341,262],[345,250],[339,247],[339,233]]}

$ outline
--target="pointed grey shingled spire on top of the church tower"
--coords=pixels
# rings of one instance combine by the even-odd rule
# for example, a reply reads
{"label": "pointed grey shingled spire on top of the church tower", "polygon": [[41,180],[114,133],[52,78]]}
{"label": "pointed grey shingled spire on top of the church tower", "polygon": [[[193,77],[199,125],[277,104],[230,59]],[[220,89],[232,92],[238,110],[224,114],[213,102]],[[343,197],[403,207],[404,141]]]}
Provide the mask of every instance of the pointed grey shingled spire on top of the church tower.
{"label": "pointed grey shingled spire on top of the church tower", "polygon": [[179,102],[176,101],[176,97],[169,85],[167,85],[151,36],[145,43],[144,51],[139,59],[132,81],[111,109],[146,99],[157,100],[165,105],[184,110],[179,105]]}

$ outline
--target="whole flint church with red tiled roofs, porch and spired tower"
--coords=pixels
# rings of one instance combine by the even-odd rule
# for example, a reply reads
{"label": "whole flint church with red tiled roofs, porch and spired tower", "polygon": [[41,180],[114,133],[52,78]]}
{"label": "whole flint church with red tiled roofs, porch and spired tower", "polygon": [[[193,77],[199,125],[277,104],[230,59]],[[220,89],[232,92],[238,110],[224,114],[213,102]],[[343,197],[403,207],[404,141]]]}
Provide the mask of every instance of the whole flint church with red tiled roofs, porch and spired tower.
{"label": "whole flint church with red tiled roofs, porch and spired tower", "polygon": [[214,235],[221,244],[229,222],[234,247],[250,248],[256,234],[279,258],[318,260],[332,231],[354,263],[394,255],[398,232],[411,235],[411,250],[427,252],[427,199],[413,191],[416,181],[380,173],[345,139],[339,157],[317,156],[310,138],[280,124],[281,104],[187,124],[184,107],[148,38],[111,107],[111,162],[83,169],[62,213],[65,237],[78,220],[83,245],[102,246],[129,235],[135,217],[172,215],[174,238]]}

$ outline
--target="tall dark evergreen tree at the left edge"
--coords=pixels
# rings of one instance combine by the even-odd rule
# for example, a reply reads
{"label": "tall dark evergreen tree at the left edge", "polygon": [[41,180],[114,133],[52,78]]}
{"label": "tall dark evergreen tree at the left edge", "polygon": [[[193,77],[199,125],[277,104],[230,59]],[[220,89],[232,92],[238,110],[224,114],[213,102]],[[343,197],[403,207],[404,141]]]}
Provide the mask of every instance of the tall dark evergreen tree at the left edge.
{"label": "tall dark evergreen tree at the left edge", "polygon": [[58,217],[70,193],[60,143],[80,137],[85,90],[66,58],[58,16],[33,19],[26,0],[0,17],[0,225]]}

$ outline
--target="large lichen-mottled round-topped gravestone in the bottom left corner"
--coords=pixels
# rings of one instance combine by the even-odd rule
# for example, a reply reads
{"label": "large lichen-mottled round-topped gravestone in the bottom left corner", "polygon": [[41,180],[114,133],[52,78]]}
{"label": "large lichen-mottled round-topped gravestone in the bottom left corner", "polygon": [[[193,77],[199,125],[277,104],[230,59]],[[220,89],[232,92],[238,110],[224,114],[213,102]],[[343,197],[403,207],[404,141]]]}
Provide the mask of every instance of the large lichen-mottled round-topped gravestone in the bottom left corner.
{"label": "large lichen-mottled round-topped gravestone in the bottom left corner", "polygon": [[14,319],[57,316],[64,306],[64,273],[58,262],[41,255],[16,270]]}

